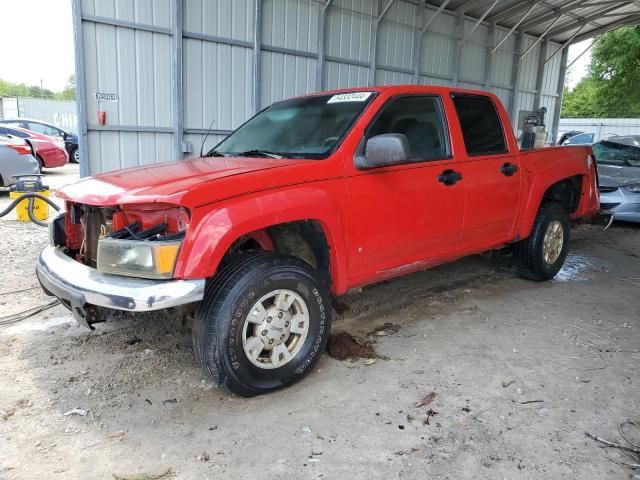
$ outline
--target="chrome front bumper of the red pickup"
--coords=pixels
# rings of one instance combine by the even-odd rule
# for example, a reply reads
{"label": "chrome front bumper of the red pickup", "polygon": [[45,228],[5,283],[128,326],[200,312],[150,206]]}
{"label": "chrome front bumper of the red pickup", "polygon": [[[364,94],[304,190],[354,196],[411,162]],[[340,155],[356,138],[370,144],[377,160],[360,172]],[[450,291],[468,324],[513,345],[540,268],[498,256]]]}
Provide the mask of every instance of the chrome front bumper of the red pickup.
{"label": "chrome front bumper of the red pickup", "polygon": [[46,246],[36,275],[48,295],[58,297],[78,323],[91,328],[87,305],[129,312],[148,312],[198,302],[205,280],[147,280],[100,273]]}

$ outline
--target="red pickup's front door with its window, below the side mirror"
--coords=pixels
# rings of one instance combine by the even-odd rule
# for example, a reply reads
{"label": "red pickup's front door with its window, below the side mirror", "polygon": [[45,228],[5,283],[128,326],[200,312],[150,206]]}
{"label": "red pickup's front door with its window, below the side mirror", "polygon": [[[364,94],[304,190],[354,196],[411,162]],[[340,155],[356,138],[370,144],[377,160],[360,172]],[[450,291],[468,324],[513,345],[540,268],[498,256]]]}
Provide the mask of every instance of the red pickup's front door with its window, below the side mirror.
{"label": "red pickup's front door with its window, below the side mirror", "polygon": [[411,157],[399,165],[347,170],[350,286],[424,268],[429,259],[453,254],[460,240],[465,182],[456,178],[441,99],[392,98],[365,138],[383,133],[405,135]]}

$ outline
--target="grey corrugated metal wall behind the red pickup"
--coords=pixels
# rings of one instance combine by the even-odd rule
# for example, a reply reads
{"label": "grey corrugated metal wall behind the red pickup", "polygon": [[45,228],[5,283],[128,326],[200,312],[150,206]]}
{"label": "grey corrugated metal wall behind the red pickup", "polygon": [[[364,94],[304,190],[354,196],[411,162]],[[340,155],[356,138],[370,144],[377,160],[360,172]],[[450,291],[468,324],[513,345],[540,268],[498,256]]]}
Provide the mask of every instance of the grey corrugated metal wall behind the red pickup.
{"label": "grey corrugated metal wall behind the red pickup", "polygon": [[421,34],[435,8],[415,0],[73,1],[83,174],[193,156],[212,122],[209,147],[274,101],[328,88],[485,89],[512,116],[547,107],[550,123],[564,75],[559,45],[516,32],[491,54],[508,30],[455,12]]}

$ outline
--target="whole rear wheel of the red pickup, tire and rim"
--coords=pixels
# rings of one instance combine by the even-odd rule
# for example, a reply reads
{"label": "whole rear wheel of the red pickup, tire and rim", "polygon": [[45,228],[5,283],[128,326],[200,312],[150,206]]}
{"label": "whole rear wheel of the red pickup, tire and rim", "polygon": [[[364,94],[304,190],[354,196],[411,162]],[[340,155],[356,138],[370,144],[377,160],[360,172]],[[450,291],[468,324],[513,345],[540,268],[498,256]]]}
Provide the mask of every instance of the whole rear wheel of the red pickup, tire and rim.
{"label": "whole rear wheel of the red pickup, tire and rim", "polygon": [[557,202],[544,203],[538,210],[531,235],[515,245],[522,274],[531,280],[551,280],[562,268],[571,225],[564,207]]}

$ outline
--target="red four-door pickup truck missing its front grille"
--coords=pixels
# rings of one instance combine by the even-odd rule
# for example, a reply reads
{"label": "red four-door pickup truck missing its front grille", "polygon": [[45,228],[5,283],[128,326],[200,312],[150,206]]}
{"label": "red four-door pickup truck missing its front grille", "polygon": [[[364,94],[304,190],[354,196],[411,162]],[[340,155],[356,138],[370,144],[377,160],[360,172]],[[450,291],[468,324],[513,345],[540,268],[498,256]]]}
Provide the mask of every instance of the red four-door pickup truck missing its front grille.
{"label": "red four-door pickup truck missing its front grille", "polygon": [[300,379],[330,295],[511,246],[548,280],[570,222],[598,213],[589,147],[521,151],[492,94],[432,86],[275,103],[204,157],[58,192],[37,275],[86,326],[101,308],[195,311],[213,380],[257,395]]}

